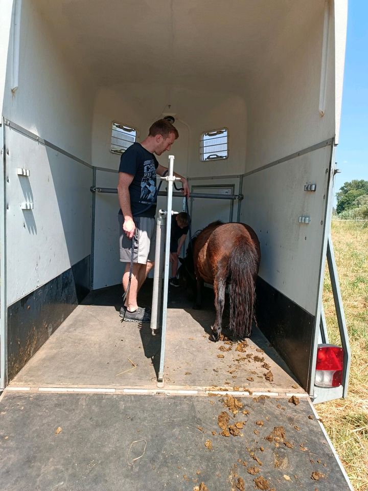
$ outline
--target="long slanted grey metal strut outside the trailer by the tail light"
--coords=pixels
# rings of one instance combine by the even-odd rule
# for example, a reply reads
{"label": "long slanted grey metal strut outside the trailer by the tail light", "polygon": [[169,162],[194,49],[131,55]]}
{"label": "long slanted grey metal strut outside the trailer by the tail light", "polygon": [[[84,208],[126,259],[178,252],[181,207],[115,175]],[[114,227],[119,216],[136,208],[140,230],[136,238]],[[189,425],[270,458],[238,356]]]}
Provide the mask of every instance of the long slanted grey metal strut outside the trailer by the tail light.
{"label": "long slanted grey metal strut outside the trailer by the tail light", "polygon": [[342,386],[343,392],[342,397],[346,397],[348,393],[348,382],[349,382],[349,371],[350,371],[350,360],[351,360],[351,352],[349,345],[349,334],[348,329],[346,327],[345,315],[342,305],[342,298],[340,292],[340,285],[337,274],[337,267],[335,261],[335,254],[332,245],[331,235],[329,235],[327,242],[327,262],[329,266],[330,278],[331,278],[331,286],[332,293],[335,302],[337,323],[340,331],[340,338],[342,343],[342,349],[344,351],[344,362],[343,362],[343,373],[342,373]]}

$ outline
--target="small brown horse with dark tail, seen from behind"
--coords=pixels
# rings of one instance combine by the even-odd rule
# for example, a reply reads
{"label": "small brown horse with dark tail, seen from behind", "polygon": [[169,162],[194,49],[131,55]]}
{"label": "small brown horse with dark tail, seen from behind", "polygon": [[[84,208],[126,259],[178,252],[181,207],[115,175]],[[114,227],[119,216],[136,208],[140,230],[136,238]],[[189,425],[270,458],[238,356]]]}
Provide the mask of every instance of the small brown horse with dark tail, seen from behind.
{"label": "small brown horse with dark tail, seen from behind", "polygon": [[194,308],[200,308],[201,283],[204,281],[214,285],[216,320],[211,326],[211,341],[220,338],[227,282],[229,328],[240,338],[250,336],[260,258],[258,237],[246,224],[215,221],[192,240],[186,258],[181,260],[179,276],[187,283],[190,278],[196,279]]}

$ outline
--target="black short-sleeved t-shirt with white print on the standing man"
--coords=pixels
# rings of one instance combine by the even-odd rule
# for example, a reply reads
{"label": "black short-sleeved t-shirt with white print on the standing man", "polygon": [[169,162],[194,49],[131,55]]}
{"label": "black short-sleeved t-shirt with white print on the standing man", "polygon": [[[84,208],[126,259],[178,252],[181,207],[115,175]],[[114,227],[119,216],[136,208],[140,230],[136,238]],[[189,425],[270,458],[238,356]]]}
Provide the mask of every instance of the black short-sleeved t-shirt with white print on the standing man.
{"label": "black short-sleeved t-shirt with white print on the standing man", "polygon": [[[119,172],[134,176],[129,186],[130,208],[133,216],[154,217],[156,214],[156,169],[153,153],[140,143],[133,143],[120,158]],[[119,211],[122,214],[122,211]]]}

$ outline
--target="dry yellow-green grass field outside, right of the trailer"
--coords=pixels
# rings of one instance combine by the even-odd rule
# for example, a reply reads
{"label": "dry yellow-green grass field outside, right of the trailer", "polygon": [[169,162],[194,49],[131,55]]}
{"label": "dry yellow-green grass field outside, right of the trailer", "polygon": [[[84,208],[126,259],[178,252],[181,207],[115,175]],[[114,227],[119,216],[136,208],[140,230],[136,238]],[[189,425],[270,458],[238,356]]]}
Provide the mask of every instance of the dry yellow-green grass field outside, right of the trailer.
{"label": "dry yellow-green grass field outside, right of the trailer", "polygon": [[[333,221],[331,233],[352,363],[348,397],[316,410],[354,489],[368,491],[368,222]],[[323,301],[329,341],[341,345],[328,270]]]}

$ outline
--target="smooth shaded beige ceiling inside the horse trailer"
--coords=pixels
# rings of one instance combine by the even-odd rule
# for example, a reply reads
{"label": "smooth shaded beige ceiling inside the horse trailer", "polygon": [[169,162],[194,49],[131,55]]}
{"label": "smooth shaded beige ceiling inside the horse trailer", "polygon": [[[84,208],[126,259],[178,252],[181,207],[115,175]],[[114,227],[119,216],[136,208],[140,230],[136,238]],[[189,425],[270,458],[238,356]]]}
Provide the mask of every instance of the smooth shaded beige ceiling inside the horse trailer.
{"label": "smooth shaded beige ceiling inside the horse trailer", "polygon": [[323,22],[324,0],[37,0],[61,44],[100,86],[244,89]]}

